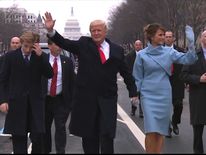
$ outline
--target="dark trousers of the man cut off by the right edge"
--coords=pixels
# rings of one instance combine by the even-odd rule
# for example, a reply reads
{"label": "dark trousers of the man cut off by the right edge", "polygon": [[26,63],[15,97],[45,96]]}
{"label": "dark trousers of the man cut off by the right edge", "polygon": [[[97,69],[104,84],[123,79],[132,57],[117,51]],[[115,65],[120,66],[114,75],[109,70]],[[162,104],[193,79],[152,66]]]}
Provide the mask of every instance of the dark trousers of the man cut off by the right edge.
{"label": "dark trousers of the man cut off by the right edge", "polygon": [[203,154],[204,148],[203,148],[203,135],[204,125],[193,125],[193,151],[196,154]]}

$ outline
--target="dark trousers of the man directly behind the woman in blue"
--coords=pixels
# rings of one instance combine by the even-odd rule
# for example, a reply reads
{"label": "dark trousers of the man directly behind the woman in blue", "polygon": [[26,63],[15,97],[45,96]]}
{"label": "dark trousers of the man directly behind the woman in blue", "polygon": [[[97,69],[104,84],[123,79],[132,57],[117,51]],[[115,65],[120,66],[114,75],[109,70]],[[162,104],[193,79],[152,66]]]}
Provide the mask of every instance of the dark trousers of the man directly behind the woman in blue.
{"label": "dark trousers of the man directly behind the woman in blue", "polygon": [[183,99],[173,99],[173,115],[172,123],[179,124],[181,122],[181,115],[183,110]]}

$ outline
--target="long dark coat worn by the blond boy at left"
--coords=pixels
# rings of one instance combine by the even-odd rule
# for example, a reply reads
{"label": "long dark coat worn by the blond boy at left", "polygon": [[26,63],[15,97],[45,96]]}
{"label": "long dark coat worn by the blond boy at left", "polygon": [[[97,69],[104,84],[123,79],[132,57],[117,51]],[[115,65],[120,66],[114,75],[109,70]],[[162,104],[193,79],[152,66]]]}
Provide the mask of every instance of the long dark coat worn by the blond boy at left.
{"label": "long dark coat worn by the blond boy at left", "polygon": [[6,53],[0,72],[0,104],[9,104],[5,133],[27,133],[28,98],[33,117],[31,130],[38,133],[45,131],[42,76],[53,76],[52,67],[44,54],[37,56],[32,52],[30,65],[27,66],[21,48]]}

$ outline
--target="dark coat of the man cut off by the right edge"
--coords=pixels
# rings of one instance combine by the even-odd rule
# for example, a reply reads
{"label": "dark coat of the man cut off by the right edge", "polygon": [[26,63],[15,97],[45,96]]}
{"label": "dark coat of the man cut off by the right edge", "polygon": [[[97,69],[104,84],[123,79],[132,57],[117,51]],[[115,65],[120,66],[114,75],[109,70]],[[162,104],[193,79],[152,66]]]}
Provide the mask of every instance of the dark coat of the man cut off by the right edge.
{"label": "dark coat of the man cut off by the right edge", "polygon": [[206,61],[203,50],[197,53],[195,64],[184,66],[181,78],[189,84],[190,123],[206,124],[206,84],[200,83],[200,77],[206,73]]}

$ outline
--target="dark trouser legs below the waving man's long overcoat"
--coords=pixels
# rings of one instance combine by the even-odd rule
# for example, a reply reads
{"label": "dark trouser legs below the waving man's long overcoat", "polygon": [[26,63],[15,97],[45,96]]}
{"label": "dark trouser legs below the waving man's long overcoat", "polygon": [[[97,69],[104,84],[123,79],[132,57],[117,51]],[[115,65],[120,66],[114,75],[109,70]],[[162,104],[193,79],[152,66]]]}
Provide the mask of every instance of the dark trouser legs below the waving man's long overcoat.
{"label": "dark trouser legs below the waving man's long overcoat", "polygon": [[82,146],[85,154],[114,154],[113,141],[108,136],[82,138]]}

